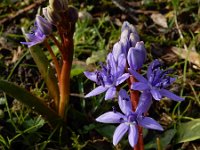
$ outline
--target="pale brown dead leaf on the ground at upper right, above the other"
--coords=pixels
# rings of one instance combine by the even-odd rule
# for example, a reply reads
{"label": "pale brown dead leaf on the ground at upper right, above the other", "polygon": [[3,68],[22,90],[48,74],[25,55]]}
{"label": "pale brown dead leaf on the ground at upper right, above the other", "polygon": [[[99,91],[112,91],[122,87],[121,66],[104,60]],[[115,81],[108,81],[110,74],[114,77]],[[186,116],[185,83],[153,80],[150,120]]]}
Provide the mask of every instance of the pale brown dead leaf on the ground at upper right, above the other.
{"label": "pale brown dead leaf on the ground at upper right, above the other", "polygon": [[163,28],[167,28],[167,19],[164,15],[160,14],[160,13],[153,13],[151,15],[151,19],[153,20],[153,22]]}

